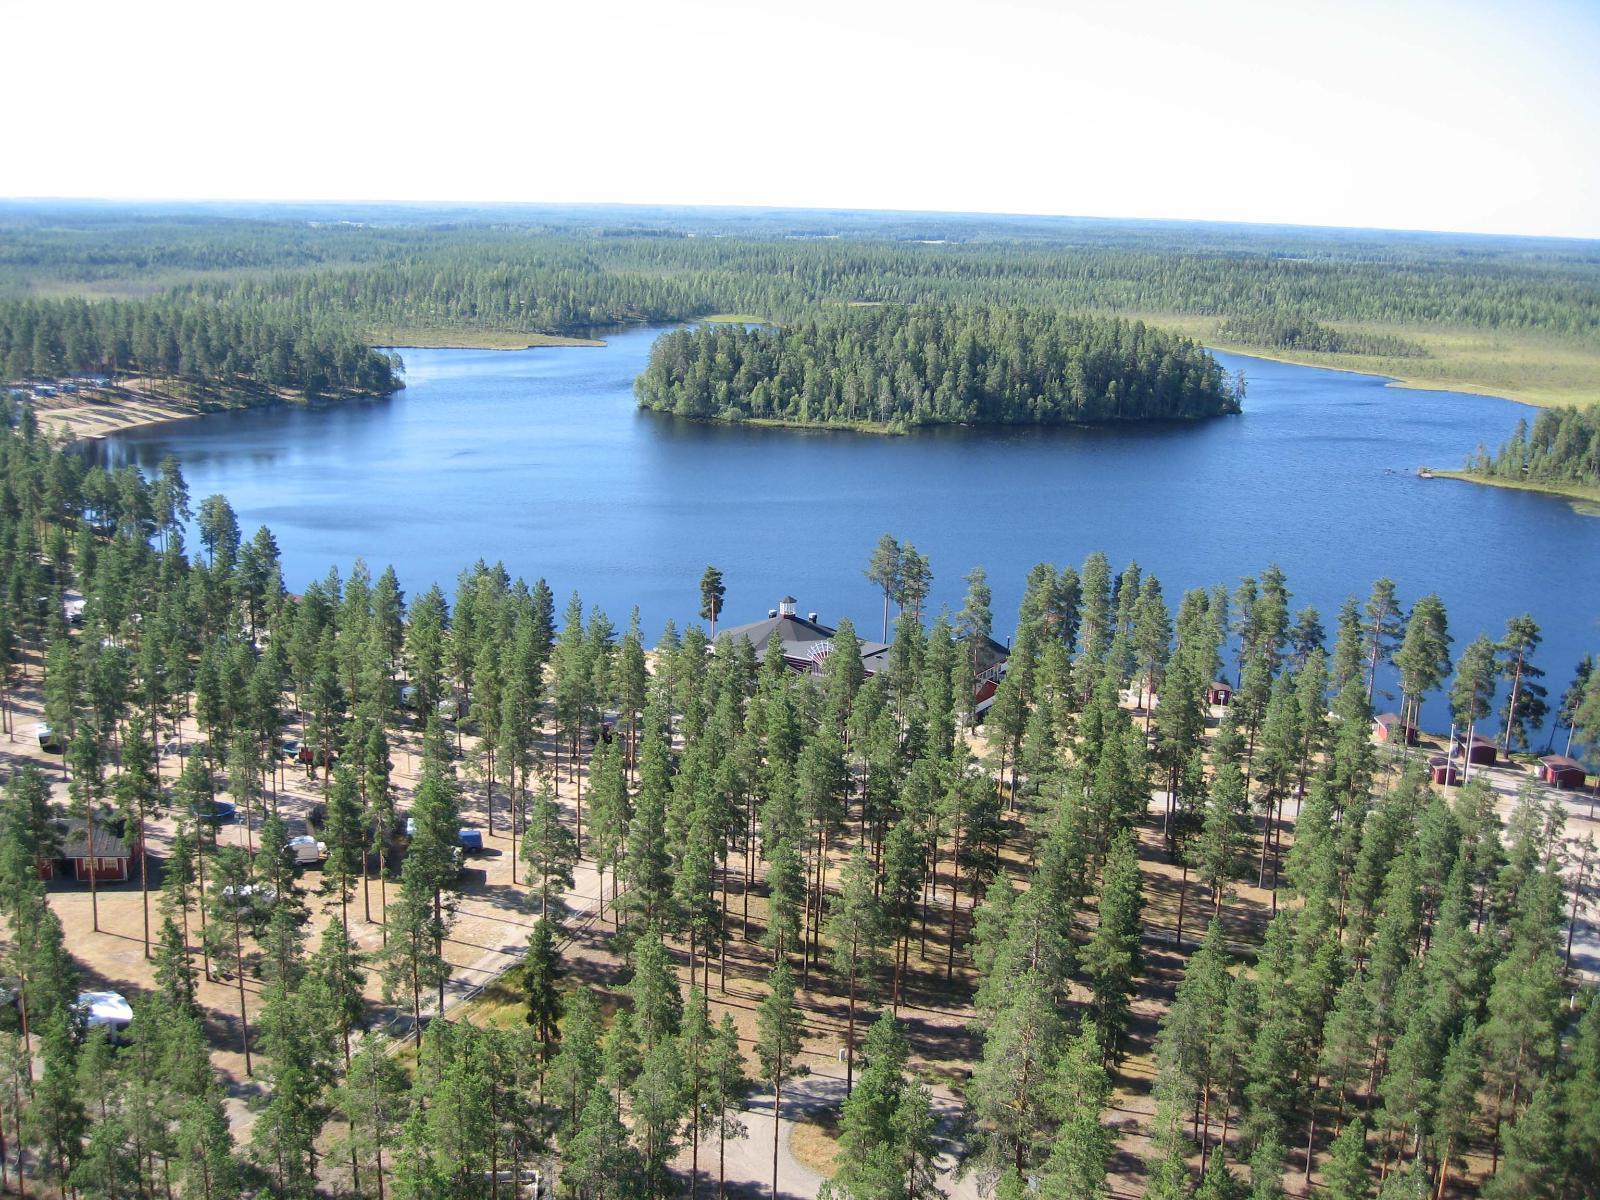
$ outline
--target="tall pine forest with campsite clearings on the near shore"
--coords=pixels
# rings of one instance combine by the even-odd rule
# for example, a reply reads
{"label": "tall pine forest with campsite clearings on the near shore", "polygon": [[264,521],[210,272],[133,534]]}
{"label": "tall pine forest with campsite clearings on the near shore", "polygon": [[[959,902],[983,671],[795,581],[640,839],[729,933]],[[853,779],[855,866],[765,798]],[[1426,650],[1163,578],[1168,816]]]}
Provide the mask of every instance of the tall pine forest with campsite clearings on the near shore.
{"label": "tall pine forest with campsite clearings on the near shore", "polygon": [[[1042,563],[979,723],[987,579],[925,613],[890,536],[882,670],[846,621],[797,672],[698,622],[646,650],[485,563],[453,597],[363,563],[291,595],[176,462],[93,469],[3,416],[0,1187],[538,1170],[622,1200],[710,1194],[747,1141],[776,1192],[816,1075],[848,1200],[952,1170],[1008,1200],[1600,1195],[1587,797],[1438,787],[1373,739],[1394,670],[1403,718],[1443,696],[1502,752],[1547,722],[1600,749],[1600,672],[1539,664],[1525,616],[1451,629],[1378,581],[1325,624],[1272,566],[1178,594]],[[707,571],[712,630],[722,595]],[[456,944],[469,811],[510,856],[496,936],[526,930],[490,981]],[[74,821],[142,846],[128,883],[40,878]],[[107,962],[138,981],[115,1042],[78,1003]]]}

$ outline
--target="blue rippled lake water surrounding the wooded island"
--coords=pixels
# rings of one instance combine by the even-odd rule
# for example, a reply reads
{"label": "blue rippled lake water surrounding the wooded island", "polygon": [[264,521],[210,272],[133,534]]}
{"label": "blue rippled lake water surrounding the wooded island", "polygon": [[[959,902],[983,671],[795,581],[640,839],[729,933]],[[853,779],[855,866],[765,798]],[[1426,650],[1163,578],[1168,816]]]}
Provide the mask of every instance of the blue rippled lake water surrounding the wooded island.
{"label": "blue rippled lake water surrounding the wooded island", "polygon": [[[1533,493],[1422,480],[1498,445],[1528,408],[1382,379],[1219,354],[1248,378],[1245,413],[1194,426],[933,430],[883,438],[685,422],[635,408],[656,330],[603,349],[406,350],[405,390],[336,406],[272,408],[128,430],[109,462],[182,462],[194,502],[221,491],[248,538],[269,525],[288,586],[357,555],[394,563],[408,595],[453,592],[477,558],[576,589],[621,627],[638,605],[653,637],[699,606],[722,568],[723,622],[794,594],[827,622],[880,632],[862,578],[878,536],[926,554],[931,608],[962,603],[987,570],[1005,635],[1029,566],[1155,571],[1176,610],[1187,587],[1229,586],[1277,562],[1330,629],[1349,592],[1395,579],[1403,605],[1438,592],[1454,648],[1533,613],[1552,702],[1600,651],[1600,520]],[[198,546],[197,541],[192,541]],[[1381,701],[1382,704],[1382,701]],[[1448,723],[1435,702],[1430,722]]]}

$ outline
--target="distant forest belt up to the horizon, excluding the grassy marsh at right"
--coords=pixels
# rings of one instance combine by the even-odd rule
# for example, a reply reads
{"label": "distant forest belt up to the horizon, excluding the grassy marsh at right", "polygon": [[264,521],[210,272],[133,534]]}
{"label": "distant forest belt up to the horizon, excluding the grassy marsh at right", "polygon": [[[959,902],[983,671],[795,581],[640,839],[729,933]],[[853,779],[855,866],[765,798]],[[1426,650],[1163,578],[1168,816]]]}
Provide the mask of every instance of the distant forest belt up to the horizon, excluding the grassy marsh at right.
{"label": "distant forest belt up to the horizon, excluding the grassy marsh at right", "polygon": [[208,288],[226,290],[243,278],[314,312],[350,309],[373,326],[546,333],[707,312],[794,320],[827,301],[1600,330],[1600,266],[1584,243],[904,214],[829,224],[814,213],[675,210],[651,210],[638,229],[584,210],[386,210],[357,226],[331,211],[288,211],[278,221],[13,218],[0,288],[139,288],[158,272],[211,277]]}

